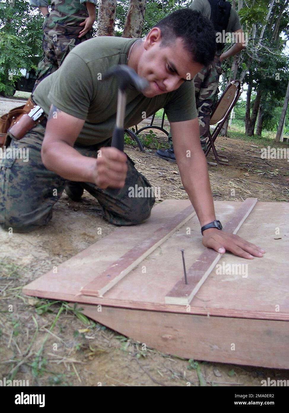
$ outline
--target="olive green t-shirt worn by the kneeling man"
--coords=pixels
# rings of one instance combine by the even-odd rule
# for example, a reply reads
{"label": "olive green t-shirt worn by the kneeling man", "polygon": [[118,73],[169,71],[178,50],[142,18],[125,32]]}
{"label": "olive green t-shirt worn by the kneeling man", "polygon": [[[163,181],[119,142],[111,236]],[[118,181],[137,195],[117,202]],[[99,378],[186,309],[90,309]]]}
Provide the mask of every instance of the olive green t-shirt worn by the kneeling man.
{"label": "olive green t-shirt worn by the kneeling man", "polygon": [[[127,64],[127,52],[136,39],[95,37],[71,50],[60,68],[43,79],[33,100],[49,113],[51,104],[61,111],[84,119],[76,143],[94,145],[110,138],[116,120],[117,80],[102,80],[115,64]],[[193,81],[184,82],[173,92],[145,97],[133,86],[127,89],[125,128],[164,108],[170,122],[197,117]]]}

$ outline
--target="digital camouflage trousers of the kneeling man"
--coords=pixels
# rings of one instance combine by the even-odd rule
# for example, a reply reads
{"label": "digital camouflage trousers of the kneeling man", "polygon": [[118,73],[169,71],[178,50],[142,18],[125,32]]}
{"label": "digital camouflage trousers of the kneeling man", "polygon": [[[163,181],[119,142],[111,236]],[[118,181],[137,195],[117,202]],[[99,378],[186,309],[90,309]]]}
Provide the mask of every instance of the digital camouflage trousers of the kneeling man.
{"label": "digital camouflage trousers of the kneeling man", "polygon": [[[24,157],[0,159],[0,225],[6,230],[12,228],[15,232],[29,232],[47,224],[52,218],[54,204],[69,182],[43,165],[40,151],[44,133],[44,125],[38,124],[21,140],[12,139],[9,149],[22,149],[28,161],[24,161]],[[111,139],[108,139],[98,145],[74,147],[82,155],[96,158],[100,147],[110,146],[110,142]],[[114,225],[134,225],[145,221],[155,203],[153,196],[129,197],[129,192],[132,193],[129,187],[135,188],[137,185],[138,188],[150,188],[150,183],[135,169],[129,157],[127,163],[125,186],[116,194],[109,189],[100,189],[93,183],[79,182],[98,200],[103,218]]]}

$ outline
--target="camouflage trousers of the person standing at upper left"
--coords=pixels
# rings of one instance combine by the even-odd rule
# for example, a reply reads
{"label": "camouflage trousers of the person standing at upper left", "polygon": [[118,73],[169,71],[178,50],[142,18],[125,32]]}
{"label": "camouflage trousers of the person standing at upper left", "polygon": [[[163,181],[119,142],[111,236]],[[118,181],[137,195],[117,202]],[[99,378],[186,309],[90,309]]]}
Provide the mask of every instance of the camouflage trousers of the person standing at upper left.
{"label": "camouflage trousers of the person standing at upper left", "polygon": [[79,32],[75,36],[66,37],[63,35],[58,35],[56,33],[53,34],[50,31],[49,36],[47,34],[43,35],[43,57],[38,63],[38,77],[35,82],[33,91],[38,83],[40,83],[44,78],[59,69],[59,67],[63,63],[63,60],[66,58],[70,50],[73,49],[73,47],[91,38],[90,32],[80,38],[77,37],[78,34]]}

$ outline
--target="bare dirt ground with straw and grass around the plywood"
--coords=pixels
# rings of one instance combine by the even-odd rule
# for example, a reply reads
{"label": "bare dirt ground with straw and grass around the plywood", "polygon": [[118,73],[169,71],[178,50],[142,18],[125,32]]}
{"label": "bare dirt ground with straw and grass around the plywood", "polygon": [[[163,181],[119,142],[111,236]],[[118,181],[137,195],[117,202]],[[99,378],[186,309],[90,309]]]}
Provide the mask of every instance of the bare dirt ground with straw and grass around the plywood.
{"label": "bare dirt ground with straw and grass around the plywood", "polygon": [[[0,98],[0,115],[21,105]],[[166,138],[157,134],[160,147]],[[275,146],[272,142],[271,147]],[[262,143],[218,138],[217,150],[230,164],[209,166],[214,199],[288,202],[289,168],[286,159],[263,160]],[[267,146],[267,144],[266,144]],[[286,145],[278,144],[278,147]],[[186,199],[176,164],[131,145],[126,152],[161,199]],[[214,161],[210,155],[209,161]],[[81,307],[24,296],[23,285],[38,278],[108,235],[114,227],[99,217],[99,205],[88,193],[81,202],[66,194],[56,204],[52,221],[29,234],[0,230],[0,378],[29,380],[29,385],[73,386],[260,386],[270,377],[288,380],[288,370],[236,366],[188,360],[142,351],[141,345],[94,323]],[[97,228],[101,227],[101,235]],[[80,275],[81,276],[81,275]]]}

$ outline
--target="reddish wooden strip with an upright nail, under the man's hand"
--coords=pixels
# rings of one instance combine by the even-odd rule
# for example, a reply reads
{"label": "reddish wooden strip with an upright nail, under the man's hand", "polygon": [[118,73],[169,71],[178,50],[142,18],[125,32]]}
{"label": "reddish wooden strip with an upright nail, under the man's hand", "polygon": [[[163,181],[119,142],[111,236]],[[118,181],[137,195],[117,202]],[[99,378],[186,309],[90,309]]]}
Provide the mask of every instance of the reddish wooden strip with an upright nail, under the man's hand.
{"label": "reddish wooden strip with an upright nail, under the man's hand", "polygon": [[[224,231],[236,234],[242,223],[254,208],[256,202],[257,198],[247,198],[243,205],[237,210],[235,216],[226,223],[223,228]],[[190,304],[201,285],[219,261],[221,255],[223,254],[220,254],[213,249],[206,249],[189,268],[187,272],[188,284],[185,284],[184,277],[181,278],[172,290],[166,294],[164,302],[166,304]]]}

